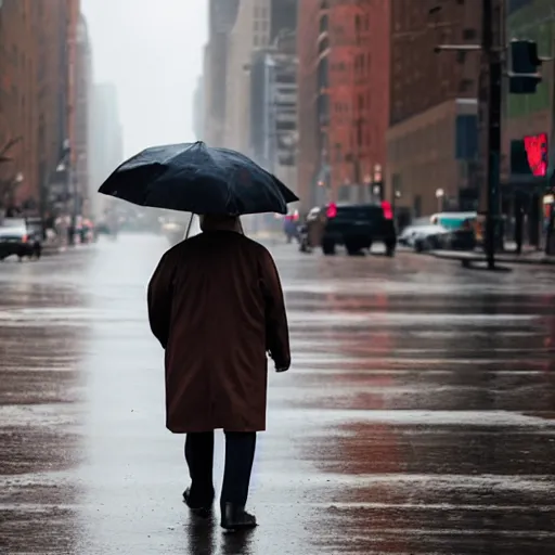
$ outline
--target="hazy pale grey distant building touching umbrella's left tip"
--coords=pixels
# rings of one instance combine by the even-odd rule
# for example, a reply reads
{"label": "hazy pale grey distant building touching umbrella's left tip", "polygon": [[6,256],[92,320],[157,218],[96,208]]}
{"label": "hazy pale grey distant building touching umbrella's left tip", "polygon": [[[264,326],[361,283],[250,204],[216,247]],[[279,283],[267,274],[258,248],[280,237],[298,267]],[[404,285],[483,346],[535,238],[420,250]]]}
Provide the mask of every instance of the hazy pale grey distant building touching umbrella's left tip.
{"label": "hazy pale grey distant building touching umbrella's left tip", "polygon": [[96,194],[103,181],[124,162],[124,140],[117,89],[113,83],[94,85],[92,92],[89,198],[91,214],[103,218],[109,198]]}

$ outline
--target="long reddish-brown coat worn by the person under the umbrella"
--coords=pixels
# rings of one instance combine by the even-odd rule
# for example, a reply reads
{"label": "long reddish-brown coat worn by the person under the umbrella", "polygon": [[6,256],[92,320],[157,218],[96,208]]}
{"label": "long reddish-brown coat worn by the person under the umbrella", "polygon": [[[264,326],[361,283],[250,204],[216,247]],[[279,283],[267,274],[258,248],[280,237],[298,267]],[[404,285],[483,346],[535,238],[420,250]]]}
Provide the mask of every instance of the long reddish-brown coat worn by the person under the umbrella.
{"label": "long reddish-brown coat worn by the person under the umbrella", "polygon": [[266,428],[267,351],[291,364],[280,278],[268,250],[209,231],[168,250],[149,285],[166,350],[166,425],[176,434]]}

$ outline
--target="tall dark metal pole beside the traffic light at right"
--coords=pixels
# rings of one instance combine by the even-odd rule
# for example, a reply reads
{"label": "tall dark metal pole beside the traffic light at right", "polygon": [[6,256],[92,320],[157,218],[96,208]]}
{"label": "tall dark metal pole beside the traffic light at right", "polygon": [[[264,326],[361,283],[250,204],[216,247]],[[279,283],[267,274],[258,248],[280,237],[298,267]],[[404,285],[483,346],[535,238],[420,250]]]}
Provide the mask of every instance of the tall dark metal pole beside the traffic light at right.
{"label": "tall dark metal pole beside the traffic light at right", "polygon": [[[494,9],[499,3],[483,0],[482,52],[488,61],[488,152],[487,152],[487,217],[486,217],[486,255],[488,268],[495,268],[495,231],[499,212],[499,182],[501,159],[501,13]],[[495,33],[495,30],[498,33]],[[496,39],[496,40],[494,40]]]}

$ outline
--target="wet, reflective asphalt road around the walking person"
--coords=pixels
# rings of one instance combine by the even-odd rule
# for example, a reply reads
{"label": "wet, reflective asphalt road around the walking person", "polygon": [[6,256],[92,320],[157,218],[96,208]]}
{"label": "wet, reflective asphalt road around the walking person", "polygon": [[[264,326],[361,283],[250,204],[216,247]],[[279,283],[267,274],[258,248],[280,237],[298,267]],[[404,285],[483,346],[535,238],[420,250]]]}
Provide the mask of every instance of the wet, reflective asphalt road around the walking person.
{"label": "wet, reflective asphalt road around the walking person", "polygon": [[166,247],[0,264],[0,553],[555,553],[553,270],[276,246],[294,365],[270,376],[260,526],[230,535],[190,519],[164,428]]}

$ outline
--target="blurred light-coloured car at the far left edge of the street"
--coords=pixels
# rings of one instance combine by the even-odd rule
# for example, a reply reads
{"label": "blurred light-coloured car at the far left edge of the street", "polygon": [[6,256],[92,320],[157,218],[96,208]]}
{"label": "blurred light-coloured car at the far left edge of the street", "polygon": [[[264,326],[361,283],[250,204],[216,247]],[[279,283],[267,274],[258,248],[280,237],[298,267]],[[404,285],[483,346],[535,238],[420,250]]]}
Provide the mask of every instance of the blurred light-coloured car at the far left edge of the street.
{"label": "blurred light-coloured car at the far left edge of the street", "polygon": [[16,256],[39,259],[44,232],[40,221],[25,218],[4,218],[0,222],[0,260]]}

